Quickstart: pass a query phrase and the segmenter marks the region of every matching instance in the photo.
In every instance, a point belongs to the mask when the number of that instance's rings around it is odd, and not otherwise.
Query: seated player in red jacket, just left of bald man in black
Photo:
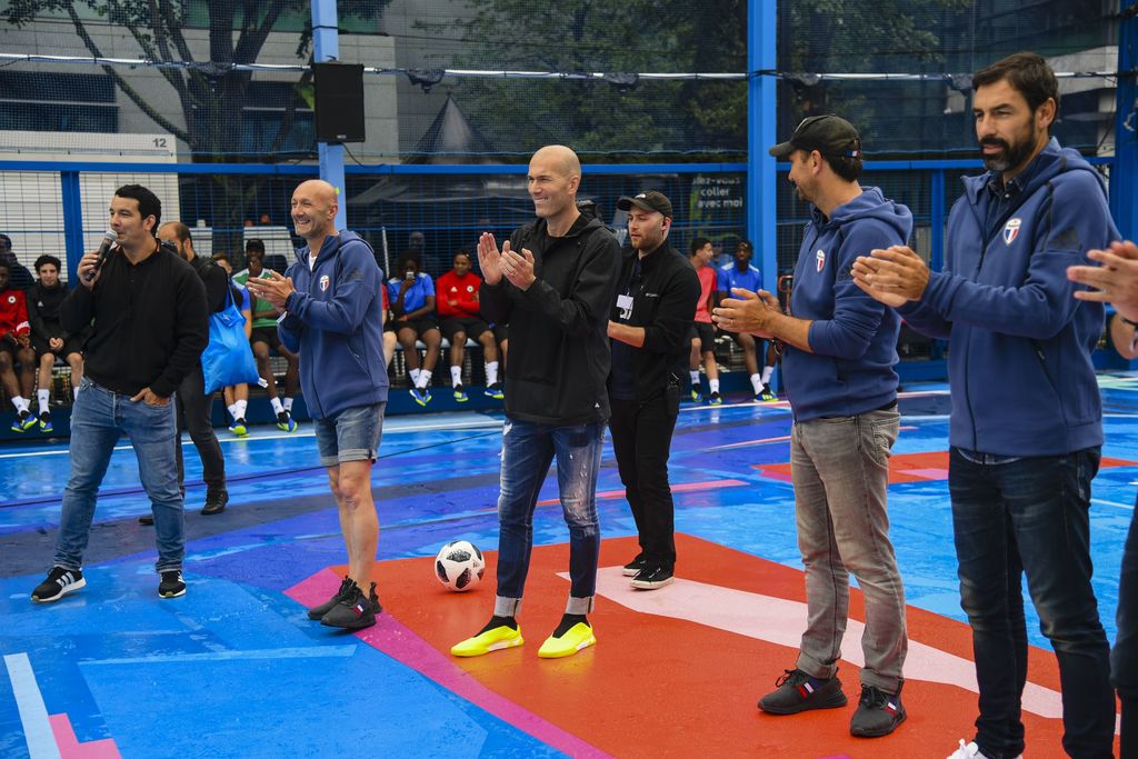
[[[470,254],[459,250],[454,254],[454,269],[438,278],[436,310],[443,322],[443,337],[451,341],[451,385],[454,386],[454,399],[462,403],[467,394],[462,389],[462,354],[467,347],[467,338],[473,338],[483,345],[483,356],[486,360],[486,395],[494,397],[501,393],[497,381],[497,345],[494,332],[483,321],[478,289],[483,278],[470,271]]]

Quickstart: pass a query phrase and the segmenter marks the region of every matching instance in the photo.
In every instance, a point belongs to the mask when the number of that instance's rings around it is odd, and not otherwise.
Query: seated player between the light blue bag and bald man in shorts
[[[264,242],[256,238],[248,240],[245,244],[245,259],[248,267],[233,274],[234,282],[245,287],[250,277],[269,278],[265,272]],[[277,336],[277,317],[281,315],[281,312],[261,298],[253,298],[251,303],[253,331],[249,345],[253,346],[253,357],[257,361],[257,373],[261,374],[261,381],[269,393],[269,403],[273,407],[273,413],[277,414],[277,428],[283,432],[295,432],[297,423],[292,419],[292,401],[300,389],[300,360],[295,353],[281,345],[280,337]],[[269,360],[272,352],[288,362],[284,370],[283,401],[277,390],[277,377],[273,374],[273,366]]]

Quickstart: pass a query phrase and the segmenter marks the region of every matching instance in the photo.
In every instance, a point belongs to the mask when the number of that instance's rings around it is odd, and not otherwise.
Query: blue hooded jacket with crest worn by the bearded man
[[[1052,139],[1007,198],[992,182],[992,172],[964,178],[948,217],[945,269],[918,303],[899,310],[917,331],[948,338],[948,442],[1012,456],[1102,445],[1090,356],[1103,305],[1075,300],[1080,286],[1066,278],[1088,249],[1119,239],[1102,178]]]

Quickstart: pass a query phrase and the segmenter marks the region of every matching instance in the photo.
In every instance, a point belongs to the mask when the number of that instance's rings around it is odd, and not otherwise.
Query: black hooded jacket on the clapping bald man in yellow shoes
[[[483,283],[481,313],[510,324],[505,413],[568,427],[609,418],[609,311],[620,274],[620,246],[596,218],[579,217],[564,237],[544,218],[514,230],[510,247],[534,254],[537,279],[519,290],[504,277]]]

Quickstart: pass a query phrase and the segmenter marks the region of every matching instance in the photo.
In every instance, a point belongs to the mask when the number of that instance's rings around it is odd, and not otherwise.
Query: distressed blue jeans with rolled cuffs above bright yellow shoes
[[[596,475],[604,446],[604,422],[553,427],[506,420],[502,431],[502,494],[498,496],[497,599],[494,613],[514,616],[529,574],[537,494],[558,460],[558,492],[569,526],[570,613],[587,613],[596,595],[601,526],[596,518]]]

